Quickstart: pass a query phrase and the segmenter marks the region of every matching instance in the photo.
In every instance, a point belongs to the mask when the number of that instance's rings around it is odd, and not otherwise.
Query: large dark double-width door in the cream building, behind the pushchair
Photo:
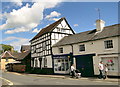
[[[93,55],[76,56],[76,68],[80,70],[82,76],[94,76]]]

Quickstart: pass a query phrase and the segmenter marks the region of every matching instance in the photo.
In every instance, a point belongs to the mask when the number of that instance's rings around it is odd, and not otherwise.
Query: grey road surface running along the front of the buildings
[[[118,85],[118,82],[104,80],[90,81],[82,79],[62,79],[49,77],[36,77],[29,75],[17,75],[13,73],[2,73],[2,77],[13,82],[14,85]],[[113,86],[112,86],[113,87]]]

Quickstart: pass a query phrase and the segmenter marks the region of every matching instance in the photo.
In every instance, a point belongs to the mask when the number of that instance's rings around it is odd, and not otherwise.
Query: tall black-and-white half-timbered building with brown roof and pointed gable
[[[31,67],[52,67],[52,45],[65,36],[74,34],[74,31],[65,18],[61,18],[53,24],[41,29],[30,41],[31,43]]]

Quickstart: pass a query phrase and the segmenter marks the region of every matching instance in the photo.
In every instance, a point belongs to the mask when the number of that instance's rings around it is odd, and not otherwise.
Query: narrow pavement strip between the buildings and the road
[[[26,73],[16,73],[16,72],[7,72],[16,75],[28,75],[34,77],[46,77],[46,78],[61,78],[61,79],[72,79],[72,80],[90,80],[90,81],[108,81],[108,82],[118,82],[120,83],[120,79],[118,78],[107,78],[107,79],[98,79],[97,77],[81,77],[79,79],[71,78],[69,75],[41,75],[41,74],[26,74]]]

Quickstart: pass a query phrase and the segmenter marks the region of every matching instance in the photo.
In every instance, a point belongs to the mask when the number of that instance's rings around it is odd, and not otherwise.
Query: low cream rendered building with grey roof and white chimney
[[[54,67],[54,72],[69,73],[69,69],[61,71],[59,67],[62,66],[62,60],[69,58],[68,55],[72,53],[73,63],[83,76],[98,75],[98,64],[100,61],[108,65],[108,75],[119,76],[120,24],[106,27],[104,27],[104,24],[103,20],[97,20],[96,29],[66,36],[53,45],[53,55],[56,58],[58,57],[57,60],[54,59],[54,66],[59,63],[59,65]],[[71,65],[71,61],[68,63]]]

